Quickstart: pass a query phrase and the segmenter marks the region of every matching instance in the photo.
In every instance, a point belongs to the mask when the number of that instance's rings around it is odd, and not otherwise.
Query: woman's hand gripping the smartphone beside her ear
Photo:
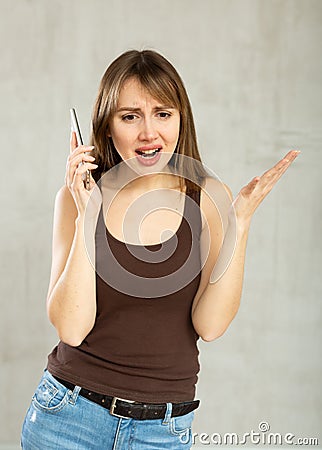
[[[90,199],[90,211],[91,217],[96,216],[99,213],[99,209],[102,204],[102,194],[90,173],[90,185],[87,190],[84,186],[83,174],[87,170],[91,171],[98,166],[94,164],[95,158],[86,152],[90,152],[94,147],[86,145],[77,145],[76,133],[73,131],[70,140],[70,154],[66,164],[65,184],[71,192],[75,205],[77,207],[78,216],[84,217],[87,206]],[[80,164],[84,162],[84,164]]]

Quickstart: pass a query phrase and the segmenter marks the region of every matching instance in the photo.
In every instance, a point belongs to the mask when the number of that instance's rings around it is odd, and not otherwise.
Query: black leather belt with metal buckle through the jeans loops
[[[62,380],[55,377],[59,383],[70,389],[74,390],[75,385],[69,383],[69,381]],[[109,409],[110,414],[116,417],[122,417],[126,419],[137,420],[151,420],[151,419],[163,419],[167,410],[166,403],[139,403],[131,400],[125,400],[119,397],[111,397],[109,395],[98,394],[97,392],[89,391],[81,388],[79,394],[82,397],[97,403],[103,408]],[[198,408],[200,401],[194,400],[191,402],[172,403],[171,417],[183,416],[189,412]]]

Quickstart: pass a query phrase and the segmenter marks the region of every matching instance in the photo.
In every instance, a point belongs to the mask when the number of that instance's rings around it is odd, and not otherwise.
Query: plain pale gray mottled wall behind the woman
[[[18,448],[57,341],[45,298],[69,108],[77,107],[88,136],[99,80],[130,48],[154,48],[174,63],[204,162],[235,195],[289,149],[302,150],[253,219],[237,317],[223,337],[200,344],[194,431],[242,435],[265,420],[272,432],[321,445],[322,2],[0,6],[1,448]]]

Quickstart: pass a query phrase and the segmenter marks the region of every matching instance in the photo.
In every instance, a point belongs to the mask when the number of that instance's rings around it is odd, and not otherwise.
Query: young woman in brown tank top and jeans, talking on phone
[[[47,310],[60,342],[22,447],[188,449],[197,340],[237,313],[252,215],[298,152],[232,203],[201,163],[182,80],[148,50],[106,70],[91,141],[72,133],[56,197]]]

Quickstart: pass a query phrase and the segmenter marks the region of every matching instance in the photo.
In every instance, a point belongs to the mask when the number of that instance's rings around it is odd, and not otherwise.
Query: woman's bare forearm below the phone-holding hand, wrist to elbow
[[[92,329],[96,315],[95,221],[77,218],[72,247],[61,276],[47,299],[50,321],[60,339],[78,346]],[[87,236],[90,236],[87,238]]]

